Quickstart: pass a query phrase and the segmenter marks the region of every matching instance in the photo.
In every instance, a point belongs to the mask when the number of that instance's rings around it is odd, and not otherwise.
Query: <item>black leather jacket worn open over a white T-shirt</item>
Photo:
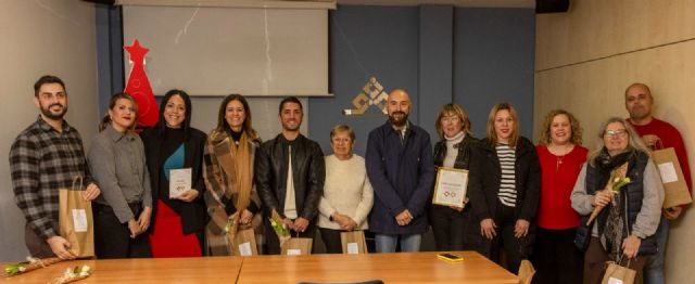
[[[300,134],[288,141],[280,133],[266,141],[256,152],[254,180],[265,205],[266,216],[275,209],[285,218],[287,191],[288,149],[292,146],[292,176],[296,215],[312,221],[318,214],[318,202],[324,194],[326,164],[318,143]],[[313,223],[313,222],[312,222]]]

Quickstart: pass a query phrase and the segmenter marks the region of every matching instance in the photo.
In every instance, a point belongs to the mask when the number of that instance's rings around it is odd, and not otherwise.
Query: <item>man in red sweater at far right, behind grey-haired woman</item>
[[[635,82],[626,89],[626,108],[630,113],[627,119],[635,131],[642,137],[644,143],[652,150],[660,150],[673,147],[679,164],[683,169],[685,183],[687,189],[692,191],[693,183],[691,181],[691,170],[687,165],[687,154],[681,133],[671,124],[659,120],[652,115],[652,105],[654,98],[649,87],[644,83]],[[658,253],[647,260],[644,267],[644,283],[665,283],[664,280],[664,257],[666,250],[666,241],[668,238],[669,222],[675,220],[682,215],[682,207],[671,207],[664,209],[659,228],[656,231]]]

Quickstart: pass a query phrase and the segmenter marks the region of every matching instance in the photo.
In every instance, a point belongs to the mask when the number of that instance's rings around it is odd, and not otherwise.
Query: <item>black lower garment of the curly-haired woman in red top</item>
[[[534,284],[581,284],[584,276],[584,254],[574,246],[577,228],[566,230],[538,229],[531,261],[535,268]]]

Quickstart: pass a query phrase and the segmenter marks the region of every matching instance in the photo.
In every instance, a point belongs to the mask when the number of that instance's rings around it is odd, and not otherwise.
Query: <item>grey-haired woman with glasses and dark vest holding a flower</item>
[[[571,195],[582,216],[574,244],[585,251],[592,284],[602,283],[608,260],[641,274],[657,251],[654,233],[664,204],[659,172],[630,124],[612,117],[599,131],[602,147],[589,156]]]

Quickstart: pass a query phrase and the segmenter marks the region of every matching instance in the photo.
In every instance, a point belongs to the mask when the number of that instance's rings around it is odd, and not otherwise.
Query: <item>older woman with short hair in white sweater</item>
[[[355,132],[345,125],[330,131],[333,155],[326,156],[324,196],[318,205],[318,229],[329,254],[342,253],[340,232],[367,229],[374,191],[365,159],[352,153]]]

